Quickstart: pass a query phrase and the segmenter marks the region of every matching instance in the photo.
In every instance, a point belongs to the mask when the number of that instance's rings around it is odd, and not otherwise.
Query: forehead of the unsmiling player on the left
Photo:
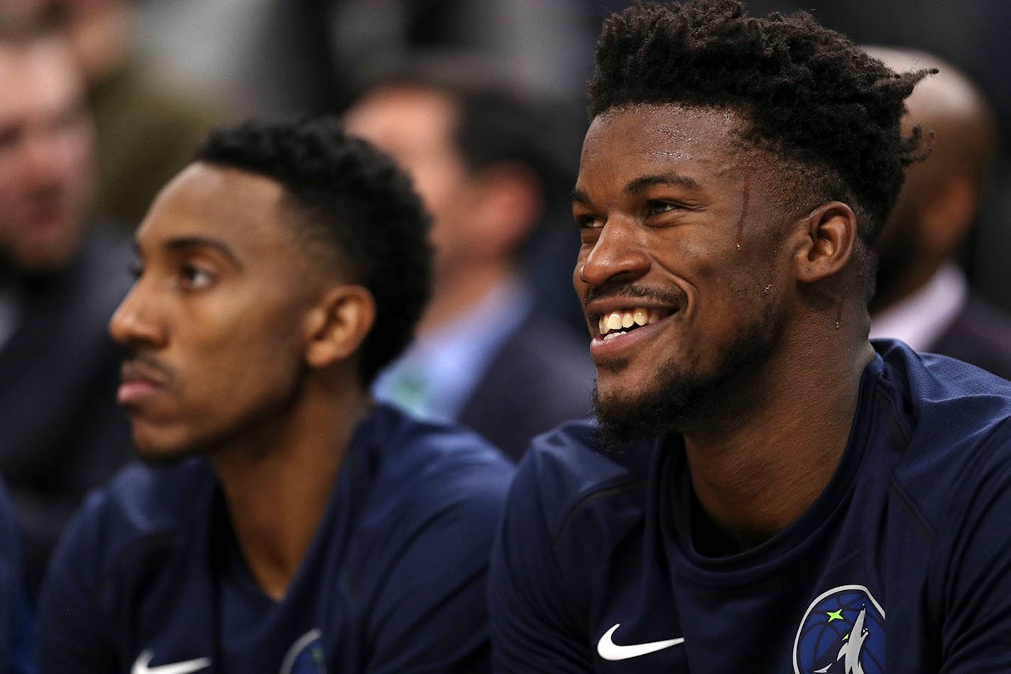
[[[292,218],[284,188],[265,176],[196,163],[176,176],[155,199],[137,229],[142,250],[173,239],[210,239],[241,261],[268,262],[291,249]]]

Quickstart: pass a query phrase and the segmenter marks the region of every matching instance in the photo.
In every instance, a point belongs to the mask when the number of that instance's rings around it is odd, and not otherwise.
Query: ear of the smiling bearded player
[[[856,245],[856,217],[841,201],[823,203],[801,223],[794,255],[798,280],[816,283],[839,273]]]

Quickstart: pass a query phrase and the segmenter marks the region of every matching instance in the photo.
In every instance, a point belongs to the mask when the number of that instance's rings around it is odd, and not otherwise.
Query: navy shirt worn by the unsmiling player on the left
[[[206,460],[130,466],[58,547],[41,671],[487,671],[485,578],[512,475],[476,434],[377,406],[275,602],[242,561]]]

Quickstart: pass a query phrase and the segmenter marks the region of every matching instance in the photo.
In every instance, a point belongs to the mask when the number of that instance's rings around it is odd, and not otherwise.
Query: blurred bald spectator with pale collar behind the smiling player
[[[1011,378],[1011,317],[977,297],[954,261],[992,177],[998,141],[993,111],[977,86],[935,56],[867,50],[896,71],[938,68],[906,100],[905,127],[933,135],[925,161],[909,167],[878,245],[871,337],[972,362]]]

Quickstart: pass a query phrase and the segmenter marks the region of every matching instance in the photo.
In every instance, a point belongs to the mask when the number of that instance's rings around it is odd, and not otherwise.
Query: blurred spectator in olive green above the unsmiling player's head
[[[133,227],[158,190],[189,162],[215,111],[170,89],[136,58],[133,0],[47,1],[88,82],[98,213]]]

